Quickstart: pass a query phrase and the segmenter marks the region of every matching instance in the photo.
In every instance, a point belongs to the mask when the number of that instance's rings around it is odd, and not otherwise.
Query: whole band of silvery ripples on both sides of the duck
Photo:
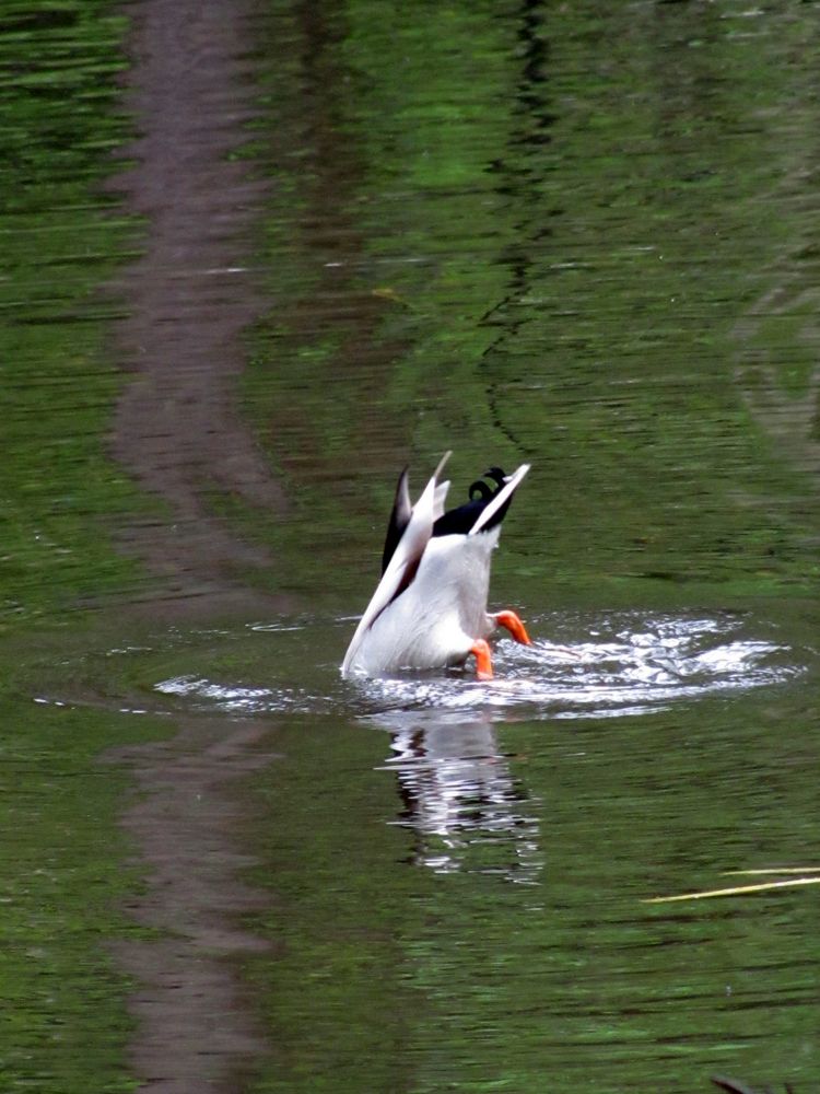
[[[552,615],[531,622],[534,632],[550,638],[530,647],[499,642],[490,682],[458,670],[351,684],[327,664],[321,695],[306,679],[262,686],[199,674],[173,676],[154,689],[232,713],[350,712],[353,705],[353,713],[389,724],[400,722],[402,711],[421,710],[435,711],[441,721],[482,711],[503,719],[611,718],[777,685],[805,671],[795,651],[762,636],[760,626],[754,632],[755,625],[742,616]],[[301,641],[311,644],[312,628],[303,630],[307,638],[303,633]],[[268,641],[273,638],[295,641],[281,629],[266,632]],[[277,652],[266,647],[266,664],[285,660]]]

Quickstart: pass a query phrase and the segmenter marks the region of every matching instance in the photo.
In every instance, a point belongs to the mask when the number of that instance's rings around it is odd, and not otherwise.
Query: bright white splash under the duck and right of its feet
[[[390,711],[437,708],[502,718],[612,718],[776,685],[803,672],[788,647],[746,633],[737,617],[609,616],[590,622],[583,637],[579,619],[535,622],[535,631],[565,640],[501,641],[496,677],[488,683],[462,673],[366,682],[361,687],[373,715],[384,722]]]

